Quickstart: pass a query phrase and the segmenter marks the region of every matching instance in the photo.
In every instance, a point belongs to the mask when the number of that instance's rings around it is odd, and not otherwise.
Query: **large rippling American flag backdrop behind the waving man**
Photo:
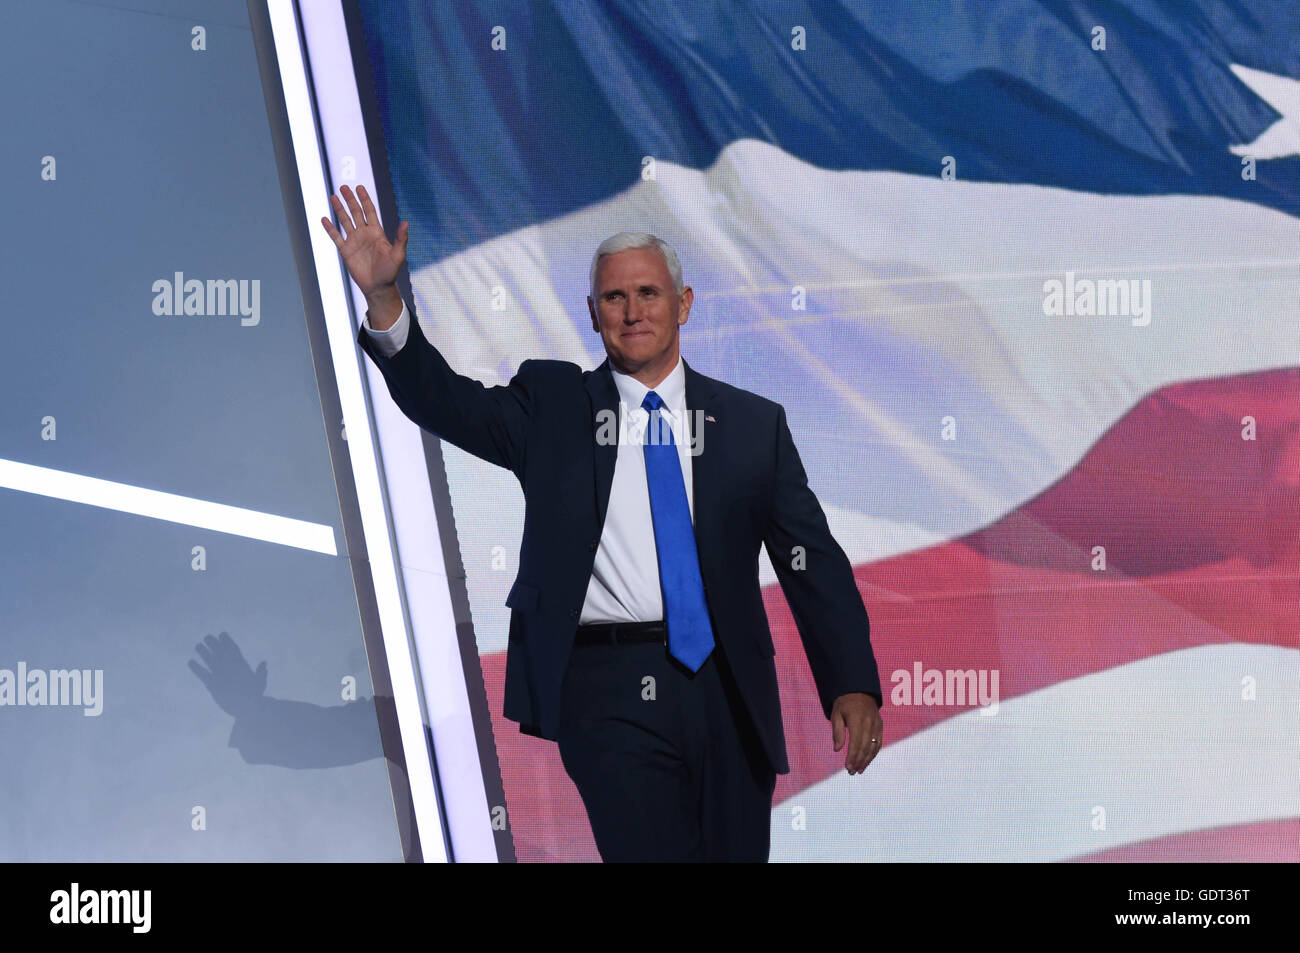
[[[786,408],[885,745],[845,774],[764,554],[772,859],[1300,859],[1300,5],[363,17],[454,368],[595,367],[590,255],[646,230],[686,359]],[[595,859],[500,715],[523,494],[443,454],[517,857]]]

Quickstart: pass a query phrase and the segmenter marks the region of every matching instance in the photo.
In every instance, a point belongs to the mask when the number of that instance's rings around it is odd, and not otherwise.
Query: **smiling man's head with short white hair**
[[[677,328],[690,315],[692,298],[689,287],[677,294],[658,248],[628,248],[599,260],[595,298],[586,306],[615,368],[662,380],[677,365]]]

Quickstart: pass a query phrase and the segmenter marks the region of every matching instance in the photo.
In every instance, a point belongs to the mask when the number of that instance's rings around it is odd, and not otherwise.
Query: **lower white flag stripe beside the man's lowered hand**
[[[771,859],[1044,863],[1300,816],[1297,663],[1202,645],[963,711],[775,805]]]

